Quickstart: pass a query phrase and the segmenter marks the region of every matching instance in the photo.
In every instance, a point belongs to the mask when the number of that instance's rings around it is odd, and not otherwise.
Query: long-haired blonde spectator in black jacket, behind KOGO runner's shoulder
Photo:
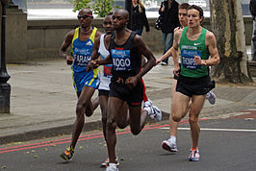
[[[145,15],[145,8],[141,3],[141,0],[133,0],[132,8],[132,28],[131,30],[141,36],[143,26],[145,26],[146,32],[149,32],[149,25]]]

